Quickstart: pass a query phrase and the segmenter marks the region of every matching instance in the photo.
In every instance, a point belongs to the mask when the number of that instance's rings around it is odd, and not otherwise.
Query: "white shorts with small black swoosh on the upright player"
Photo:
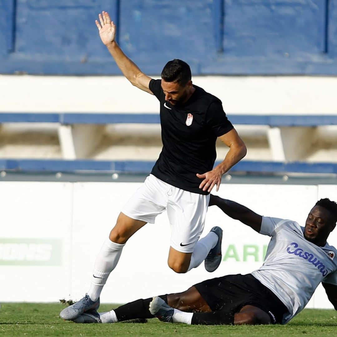
[[[150,174],[122,209],[128,217],[154,223],[165,210],[170,221],[171,247],[193,252],[204,229],[209,194],[203,195],[169,185]]]

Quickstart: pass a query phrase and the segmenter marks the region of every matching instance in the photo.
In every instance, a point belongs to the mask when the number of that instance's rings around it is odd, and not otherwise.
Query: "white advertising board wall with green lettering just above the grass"
[[[0,285],[6,291],[0,293],[0,301],[80,299],[89,289],[93,263],[103,240],[121,207],[140,185],[1,182]],[[337,186],[332,185],[226,184],[218,194],[257,213],[290,218],[304,225],[317,198],[334,200],[336,193]],[[168,268],[170,225],[164,213],[155,224],[146,225],[130,238],[103,289],[102,302],[125,303],[180,292],[207,278],[250,273],[261,266],[267,236],[211,207],[204,233],[214,225],[224,230],[223,257],[226,252],[232,255],[214,273],[208,273],[203,265],[187,274],[176,274]],[[336,242],[337,232],[329,238],[330,244]],[[245,259],[244,250],[251,253]],[[332,308],[321,286],[308,307]]]

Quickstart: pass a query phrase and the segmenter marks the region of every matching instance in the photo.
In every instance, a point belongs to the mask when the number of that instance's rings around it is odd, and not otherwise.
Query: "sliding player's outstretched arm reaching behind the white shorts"
[[[216,205],[222,212],[235,220],[239,220],[245,225],[251,227],[256,232],[261,231],[262,216],[256,214],[249,208],[242,206],[234,201],[220,198],[217,195],[210,195],[209,206]]]

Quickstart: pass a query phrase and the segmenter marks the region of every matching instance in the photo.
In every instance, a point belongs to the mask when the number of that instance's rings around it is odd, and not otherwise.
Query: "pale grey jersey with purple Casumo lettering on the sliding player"
[[[292,220],[263,217],[261,234],[271,236],[265,262],[251,274],[288,308],[283,324],[309,302],[320,282],[337,285],[337,250],[304,238],[304,227]]]

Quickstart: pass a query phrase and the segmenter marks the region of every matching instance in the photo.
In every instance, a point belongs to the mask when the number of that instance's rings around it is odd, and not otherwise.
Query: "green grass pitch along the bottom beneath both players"
[[[100,311],[116,307],[102,304]],[[62,304],[2,303],[3,336],[337,336],[335,310],[305,309],[284,326],[188,326],[150,319],[145,324],[75,324],[63,321]]]

